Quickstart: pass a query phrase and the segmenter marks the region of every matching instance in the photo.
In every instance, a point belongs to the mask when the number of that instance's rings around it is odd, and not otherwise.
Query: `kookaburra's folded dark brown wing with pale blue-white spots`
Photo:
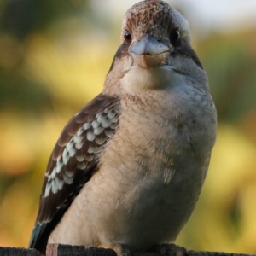
[[[38,218],[29,247],[45,251],[49,235],[98,170],[97,155],[113,135],[119,99],[100,94],[67,123],[55,144],[44,177]]]

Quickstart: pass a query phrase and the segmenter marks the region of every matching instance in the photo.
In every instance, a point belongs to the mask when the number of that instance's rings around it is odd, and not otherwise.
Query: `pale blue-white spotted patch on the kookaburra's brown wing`
[[[58,156],[55,167],[45,176],[48,178],[44,190],[44,197],[48,197],[49,193],[58,193],[64,184],[72,184],[74,179],[74,170],[68,170],[68,163],[71,158],[77,160],[76,168],[84,170],[88,166],[88,162],[93,160],[95,154],[99,151],[99,146],[104,143],[113,133],[113,129],[118,122],[118,112],[116,108],[106,108],[103,113],[96,113],[96,119],[84,123],[82,127],[73,135],[70,141],[66,144],[61,155]],[[110,129],[109,129],[110,128]],[[104,136],[101,136],[104,132]],[[84,154],[77,154],[84,143],[88,143],[89,147]],[[65,167],[65,168],[63,168]],[[58,175],[61,170],[65,170]]]

